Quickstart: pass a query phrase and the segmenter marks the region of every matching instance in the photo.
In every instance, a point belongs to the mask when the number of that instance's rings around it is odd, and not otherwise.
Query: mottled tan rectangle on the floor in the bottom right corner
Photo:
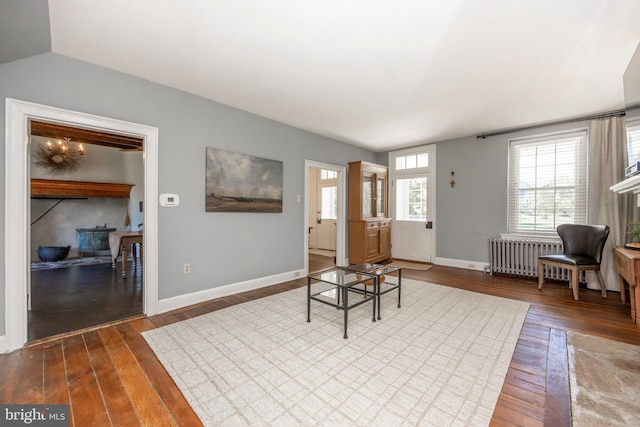
[[[640,347],[567,332],[575,427],[640,425]]]

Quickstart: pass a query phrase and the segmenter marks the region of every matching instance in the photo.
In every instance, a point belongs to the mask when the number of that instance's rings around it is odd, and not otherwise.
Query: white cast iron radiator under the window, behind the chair
[[[538,257],[561,254],[562,242],[555,240],[489,239],[489,268],[491,274],[538,277]],[[569,280],[564,268],[545,266],[545,279]],[[584,282],[584,272],[579,280]]]

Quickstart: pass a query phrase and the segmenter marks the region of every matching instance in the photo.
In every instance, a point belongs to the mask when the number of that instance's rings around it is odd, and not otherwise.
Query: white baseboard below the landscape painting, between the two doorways
[[[206,289],[204,291],[193,292],[190,294],[179,295],[177,297],[162,299],[158,301],[158,314],[167,311],[177,310],[193,304],[209,301],[216,298],[226,297],[228,295],[240,292],[252,291],[254,289],[264,288],[266,286],[275,285],[290,280],[303,277],[304,270],[290,271],[287,273],[276,274],[268,277],[260,277],[258,279],[247,280],[245,282],[232,283],[225,286]]]

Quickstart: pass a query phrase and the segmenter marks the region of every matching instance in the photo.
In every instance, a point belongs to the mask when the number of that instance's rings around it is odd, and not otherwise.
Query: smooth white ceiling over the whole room
[[[53,52],[382,152],[622,108],[638,0],[49,0]]]

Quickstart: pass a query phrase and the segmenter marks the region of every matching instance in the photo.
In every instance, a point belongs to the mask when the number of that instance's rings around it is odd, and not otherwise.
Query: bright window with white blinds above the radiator
[[[510,142],[510,234],[553,236],[586,216],[586,130]]]

